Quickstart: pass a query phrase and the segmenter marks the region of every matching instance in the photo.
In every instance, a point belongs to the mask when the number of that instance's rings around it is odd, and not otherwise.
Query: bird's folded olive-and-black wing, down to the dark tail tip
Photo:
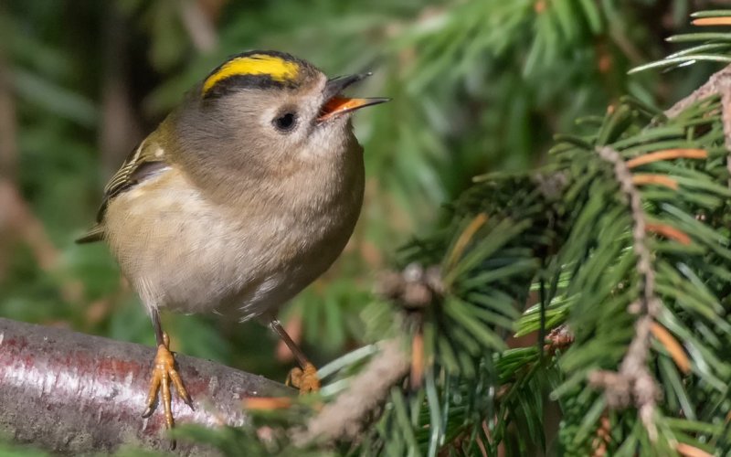
[[[90,228],[79,239],[77,243],[91,243],[101,241],[104,238],[104,215],[107,206],[112,198],[129,190],[133,186],[142,183],[146,178],[155,175],[158,171],[168,166],[165,162],[164,150],[160,147],[148,144],[147,140],[132,149],[124,163],[117,170],[107,186],[104,187],[104,196],[101,199],[101,206],[97,211],[97,223]]]

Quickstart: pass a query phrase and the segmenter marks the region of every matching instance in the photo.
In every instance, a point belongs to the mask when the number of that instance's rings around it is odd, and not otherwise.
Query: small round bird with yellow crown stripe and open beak
[[[97,224],[78,242],[105,240],[154,326],[157,356],[144,417],[157,394],[167,428],[175,368],[159,311],[259,318],[302,367],[292,384],[319,388],[316,370],[278,310],[344,249],[363,203],[355,110],[388,101],[346,98],[368,74],[328,79],[276,51],[228,58],[130,154],[104,188]]]

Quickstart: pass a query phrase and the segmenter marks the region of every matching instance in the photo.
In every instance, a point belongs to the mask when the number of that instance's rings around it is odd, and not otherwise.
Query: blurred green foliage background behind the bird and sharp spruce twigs
[[[364,339],[378,271],[440,226],[472,175],[540,163],[630,93],[668,106],[709,67],[628,77],[673,51],[690,0],[54,0],[0,2],[0,316],[154,344],[103,244],[73,239],[106,179],[228,55],[277,49],[394,100],[355,116],[365,207],[344,255],[284,310],[317,363]],[[174,350],[283,380],[257,323],[164,315]]]

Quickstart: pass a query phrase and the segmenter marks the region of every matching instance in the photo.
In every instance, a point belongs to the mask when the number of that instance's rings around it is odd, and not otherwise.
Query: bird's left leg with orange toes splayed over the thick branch
[[[173,382],[178,396],[185,401],[185,404],[193,409],[193,403],[190,400],[187,390],[183,385],[183,380],[175,369],[175,356],[170,352],[170,338],[160,325],[160,315],[157,310],[153,311],[153,325],[155,339],[157,340],[157,356],[154,357],[153,375],[150,380],[150,390],[147,394],[146,409],[143,412],[143,418],[148,418],[153,414],[157,392],[162,390],[163,408],[165,413],[165,425],[168,430],[175,426],[175,419],[172,411],[172,396],[170,393],[170,382]],[[172,446],[175,447],[175,441]]]

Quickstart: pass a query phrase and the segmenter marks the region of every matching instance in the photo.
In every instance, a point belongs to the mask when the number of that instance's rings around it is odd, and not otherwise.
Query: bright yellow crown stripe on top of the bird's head
[[[300,65],[283,58],[266,54],[252,54],[246,57],[232,58],[203,83],[203,94],[217,84],[232,76],[268,75],[272,80],[285,82],[297,78]]]

